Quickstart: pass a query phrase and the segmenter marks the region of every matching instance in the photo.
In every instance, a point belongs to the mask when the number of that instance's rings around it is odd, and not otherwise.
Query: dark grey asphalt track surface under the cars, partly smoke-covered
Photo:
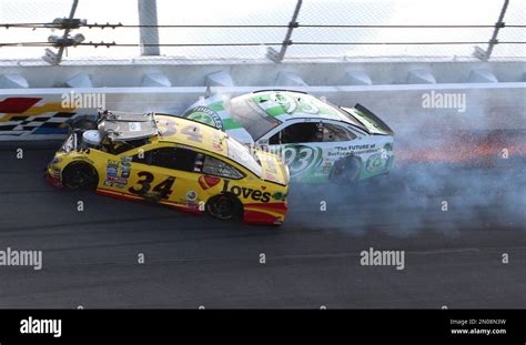
[[[41,271],[0,266],[1,308],[526,307],[524,161],[292,186],[274,227],[54,190],[42,173],[53,149],[0,146],[0,250],[43,251]],[[370,247],[405,251],[405,268],[361,265]]]

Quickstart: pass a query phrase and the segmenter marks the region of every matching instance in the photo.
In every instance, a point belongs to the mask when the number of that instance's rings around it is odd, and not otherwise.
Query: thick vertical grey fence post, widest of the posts
[[[139,24],[148,26],[139,28],[141,55],[160,55],[159,49],[159,28],[158,24],[158,1],[156,0],[138,0],[139,4]],[[153,44],[153,45],[152,45]]]

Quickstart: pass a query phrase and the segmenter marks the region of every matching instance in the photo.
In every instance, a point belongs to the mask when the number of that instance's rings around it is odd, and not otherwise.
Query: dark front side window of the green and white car
[[[271,145],[276,145],[321,142],[323,141],[322,129],[321,123],[317,122],[294,123],[272,135],[269,143]]]

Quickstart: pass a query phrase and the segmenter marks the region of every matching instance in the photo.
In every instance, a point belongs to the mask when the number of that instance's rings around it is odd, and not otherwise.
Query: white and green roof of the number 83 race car
[[[301,91],[265,90],[249,93],[246,97],[260,105],[267,115],[275,116],[282,122],[303,118],[350,122],[331,103]],[[282,101],[276,102],[276,98]]]

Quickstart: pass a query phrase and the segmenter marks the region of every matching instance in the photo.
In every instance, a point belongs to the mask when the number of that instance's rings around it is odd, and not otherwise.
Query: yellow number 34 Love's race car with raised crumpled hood
[[[249,149],[206,124],[105,111],[71,123],[47,177],[57,187],[282,224],[290,174],[277,155]]]

